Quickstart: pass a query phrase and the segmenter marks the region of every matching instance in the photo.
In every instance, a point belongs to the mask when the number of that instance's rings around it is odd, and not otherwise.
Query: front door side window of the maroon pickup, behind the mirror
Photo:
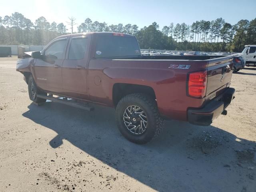
[[[46,59],[62,59],[66,48],[67,40],[57,40],[51,44],[44,52]]]

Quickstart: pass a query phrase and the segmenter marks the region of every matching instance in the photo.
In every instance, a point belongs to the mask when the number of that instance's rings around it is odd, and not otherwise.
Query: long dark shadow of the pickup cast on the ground
[[[242,168],[254,161],[253,156],[239,156],[239,150],[242,153],[248,148],[254,155],[256,143],[214,126],[166,121],[156,140],[136,145],[118,131],[112,108],[95,106],[94,112],[86,112],[46,102],[43,106],[30,104],[28,109],[24,117],[58,134],[49,141],[52,148],[68,140],[154,190],[227,192],[256,187],[254,180],[246,178],[247,167]]]

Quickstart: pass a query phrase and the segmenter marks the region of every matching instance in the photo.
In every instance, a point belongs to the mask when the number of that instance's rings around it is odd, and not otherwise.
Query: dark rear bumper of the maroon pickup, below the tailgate
[[[210,101],[203,108],[188,109],[188,122],[200,126],[208,126],[217,118],[234,99],[234,88],[228,88],[216,99]]]

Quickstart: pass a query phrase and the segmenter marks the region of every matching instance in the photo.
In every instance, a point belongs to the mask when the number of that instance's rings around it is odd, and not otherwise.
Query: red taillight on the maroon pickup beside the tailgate
[[[206,84],[206,71],[190,73],[188,78],[188,94],[192,97],[203,98],[206,94]]]

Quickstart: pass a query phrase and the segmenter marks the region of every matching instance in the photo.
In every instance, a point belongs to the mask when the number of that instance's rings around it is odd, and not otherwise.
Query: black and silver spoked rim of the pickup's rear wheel
[[[132,134],[141,135],[146,131],[148,119],[142,108],[131,105],[124,110],[123,122]]]

